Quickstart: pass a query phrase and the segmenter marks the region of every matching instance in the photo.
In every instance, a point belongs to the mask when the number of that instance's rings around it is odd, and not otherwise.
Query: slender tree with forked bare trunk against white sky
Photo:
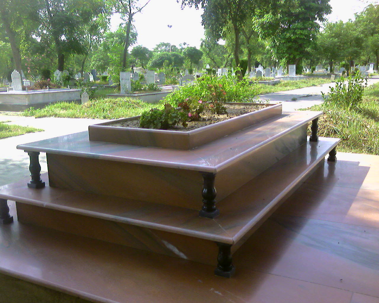
[[[126,70],[126,62],[128,56],[128,48],[130,46],[130,32],[134,15],[141,12],[142,9],[150,2],[147,0],[140,5],[139,0],[106,0],[108,6],[112,8],[112,13],[120,13],[122,19],[126,22],[126,34],[124,42],[124,52],[122,55],[122,70]]]

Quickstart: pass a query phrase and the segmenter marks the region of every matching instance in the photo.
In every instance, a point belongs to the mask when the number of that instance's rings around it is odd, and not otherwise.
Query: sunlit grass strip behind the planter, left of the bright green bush
[[[58,102],[41,109],[30,108],[23,112],[24,116],[88,118],[88,119],[119,119],[139,116],[143,111],[161,108],[161,104],[146,103],[132,98],[96,98],[81,105],[73,102]]]

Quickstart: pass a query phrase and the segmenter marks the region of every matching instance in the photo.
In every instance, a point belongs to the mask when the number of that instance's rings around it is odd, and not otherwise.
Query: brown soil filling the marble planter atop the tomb
[[[199,121],[190,121],[188,122],[188,127],[177,125],[175,127],[169,128],[169,130],[176,130],[176,131],[195,130],[196,128],[204,127],[213,123],[217,123],[224,120],[228,120],[230,118],[238,117],[243,114],[247,114],[249,112],[266,108],[267,106],[269,105],[266,105],[266,104],[255,104],[255,105],[225,104],[226,110],[228,112],[227,114],[216,115],[216,114],[213,114],[209,110],[205,110],[204,113],[201,115],[201,118]],[[125,122],[118,122],[110,126],[139,128],[139,119],[128,120]]]

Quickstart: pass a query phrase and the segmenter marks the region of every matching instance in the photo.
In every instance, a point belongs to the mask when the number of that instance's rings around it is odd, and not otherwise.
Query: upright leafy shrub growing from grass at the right
[[[362,102],[363,91],[367,86],[367,79],[362,78],[359,73],[350,75],[348,78],[341,77],[335,87],[329,87],[329,94],[323,94],[324,100],[350,110]]]

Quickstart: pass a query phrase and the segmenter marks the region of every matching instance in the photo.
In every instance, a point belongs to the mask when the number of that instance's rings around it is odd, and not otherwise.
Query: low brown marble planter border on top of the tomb
[[[257,105],[257,103],[251,104]],[[262,104],[259,103],[259,105]],[[113,123],[139,119],[140,116],[118,119],[90,125],[88,127],[89,140],[189,150],[282,114],[281,104],[267,104],[266,106],[266,108],[258,111],[190,131],[152,130],[146,128],[111,126]]]

